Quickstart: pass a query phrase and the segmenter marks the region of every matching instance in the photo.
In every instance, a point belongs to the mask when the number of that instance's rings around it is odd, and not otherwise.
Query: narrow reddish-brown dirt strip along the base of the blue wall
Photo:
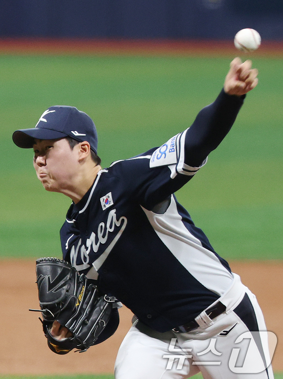
[[[0,53],[28,55],[144,55],[231,56],[245,55],[231,41],[111,40],[111,39],[0,39]],[[246,55],[250,58],[251,54]],[[283,42],[262,41],[256,56],[283,57]]]

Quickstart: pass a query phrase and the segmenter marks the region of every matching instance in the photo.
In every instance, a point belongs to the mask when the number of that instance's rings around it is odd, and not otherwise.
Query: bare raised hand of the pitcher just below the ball
[[[224,82],[224,91],[228,95],[242,96],[251,91],[258,84],[258,70],[252,69],[252,61],[242,63],[235,58],[230,63],[230,70]]]

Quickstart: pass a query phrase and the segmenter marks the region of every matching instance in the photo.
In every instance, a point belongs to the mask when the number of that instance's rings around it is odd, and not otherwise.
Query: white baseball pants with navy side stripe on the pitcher
[[[159,333],[136,320],[115,363],[115,379],[274,379],[266,326],[237,274],[219,301],[226,312],[188,333]],[[199,318],[198,318],[199,319]]]

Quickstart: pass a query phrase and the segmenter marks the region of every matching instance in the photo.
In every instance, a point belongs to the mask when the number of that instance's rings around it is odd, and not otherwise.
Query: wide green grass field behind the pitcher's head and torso
[[[231,57],[232,59],[233,57]],[[17,128],[51,105],[88,113],[103,166],[159,146],[187,128],[222,88],[227,58],[0,55],[0,257],[61,257],[70,199],[47,193]],[[283,61],[254,60],[260,82],[223,143],[178,193],[227,259],[281,259]]]

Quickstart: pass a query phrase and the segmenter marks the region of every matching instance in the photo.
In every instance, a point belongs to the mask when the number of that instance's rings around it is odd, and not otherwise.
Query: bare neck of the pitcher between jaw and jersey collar
[[[92,168],[84,169],[78,173],[75,180],[72,181],[72,185],[66,188],[62,188],[59,192],[70,197],[75,204],[77,204],[83,196],[91,188],[98,172],[101,170],[101,166],[98,164]]]

